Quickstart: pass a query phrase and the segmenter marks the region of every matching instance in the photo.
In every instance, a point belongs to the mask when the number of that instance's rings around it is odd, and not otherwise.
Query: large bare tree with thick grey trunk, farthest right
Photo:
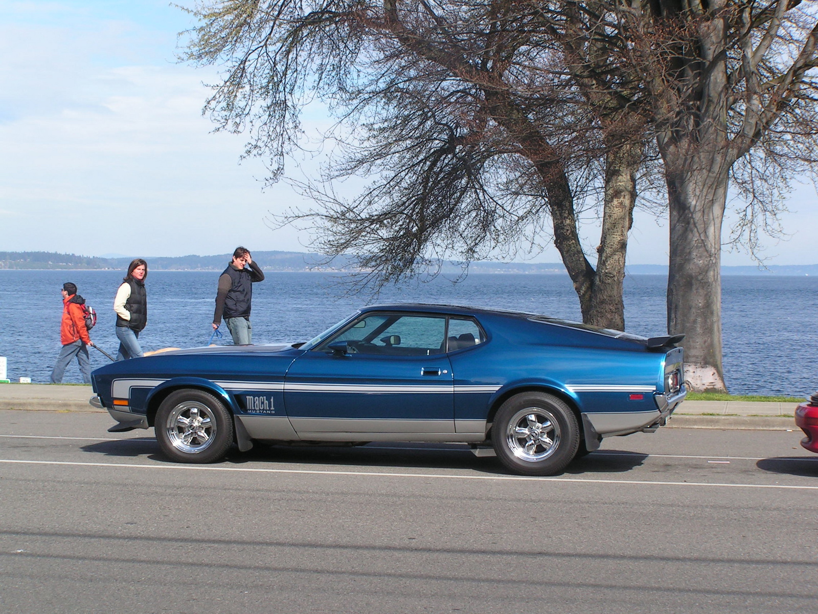
[[[816,162],[815,2],[622,3],[623,56],[645,75],[670,205],[669,332],[685,332],[687,377],[724,390],[721,232],[730,180],[748,198],[740,230],[775,223],[768,198]],[[808,6],[807,6],[808,5]]]

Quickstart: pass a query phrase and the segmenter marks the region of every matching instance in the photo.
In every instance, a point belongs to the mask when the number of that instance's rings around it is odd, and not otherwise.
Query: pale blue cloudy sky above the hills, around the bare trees
[[[286,183],[263,188],[261,161],[240,163],[245,137],[212,133],[202,117],[202,83],[216,73],[176,61],[191,25],[162,0],[0,2],[0,251],[306,251],[308,234],[264,220],[307,203]],[[288,167],[314,169],[308,159]],[[768,264],[818,262],[816,201],[811,185],[790,195],[791,236],[766,241]],[[583,237],[592,253],[597,228]],[[553,247],[534,258],[559,260]],[[663,219],[636,216],[628,261],[667,263]],[[752,260],[728,251],[723,263]]]

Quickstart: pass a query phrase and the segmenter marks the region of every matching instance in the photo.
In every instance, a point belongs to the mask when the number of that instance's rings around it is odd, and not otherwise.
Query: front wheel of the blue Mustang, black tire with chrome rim
[[[162,453],[177,463],[215,463],[233,443],[230,412],[196,389],[170,393],[156,412],[154,430]]]

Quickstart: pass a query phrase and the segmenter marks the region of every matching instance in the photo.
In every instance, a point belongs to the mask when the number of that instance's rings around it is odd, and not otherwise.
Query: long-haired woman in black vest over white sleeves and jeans
[[[142,345],[139,345],[139,333],[148,322],[148,302],[145,293],[145,278],[148,276],[148,264],[142,258],[128,264],[128,274],[116,291],[114,311],[116,312],[116,336],[119,339],[117,360],[139,358]]]

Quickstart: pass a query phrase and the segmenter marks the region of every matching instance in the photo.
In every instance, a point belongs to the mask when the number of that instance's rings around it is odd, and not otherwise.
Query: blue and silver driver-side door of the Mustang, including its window
[[[331,347],[330,347],[331,346]],[[455,432],[446,317],[367,312],[305,352],[285,377],[302,439],[400,439]]]

